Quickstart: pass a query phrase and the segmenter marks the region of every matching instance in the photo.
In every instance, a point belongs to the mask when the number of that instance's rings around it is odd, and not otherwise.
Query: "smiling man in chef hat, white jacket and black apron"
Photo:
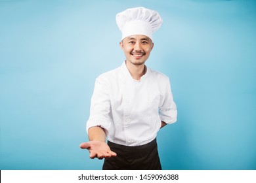
[[[169,78],[146,67],[154,47],[158,12],[129,8],[116,16],[125,61],[95,82],[87,122],[90,158],[104,158],[103,169],[161,169],[156,135],[177,120]],[[106,144],[108,137],[108,144]]]

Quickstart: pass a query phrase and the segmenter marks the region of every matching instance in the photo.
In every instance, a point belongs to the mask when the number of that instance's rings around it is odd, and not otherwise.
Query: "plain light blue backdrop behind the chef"
[[[178,107],[163,169],[256,169],[255,1],[0,0],[1,169],[101,169],[79,144],[96,76],[125,59],[116,13],[138,6],[163,18],[147,65]]]

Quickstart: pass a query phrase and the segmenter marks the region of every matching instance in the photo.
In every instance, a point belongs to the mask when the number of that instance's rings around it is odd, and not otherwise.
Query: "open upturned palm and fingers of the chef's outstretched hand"
[[[106,142],[101,141],[89,141],[80,144],[80,148],[87,149],[90,152],[90,158],[110,158],[116,156],[116,152],[112,152]]]

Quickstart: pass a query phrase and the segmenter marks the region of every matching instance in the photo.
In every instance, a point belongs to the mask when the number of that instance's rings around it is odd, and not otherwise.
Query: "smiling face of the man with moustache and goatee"
[[[119,44],[125,53],[126,61],[133,65],[144,64],[154,46],[152,40],[145,35],[131,35]]]

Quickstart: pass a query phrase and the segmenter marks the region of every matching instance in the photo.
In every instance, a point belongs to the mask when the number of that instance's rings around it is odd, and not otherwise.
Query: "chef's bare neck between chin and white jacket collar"
[[[146,73],[146,67],[143,64],[141,65],[134,65],[129,63],[129,61],[125,61],[126,67],[135,80],[140,80],[140,78]]]

